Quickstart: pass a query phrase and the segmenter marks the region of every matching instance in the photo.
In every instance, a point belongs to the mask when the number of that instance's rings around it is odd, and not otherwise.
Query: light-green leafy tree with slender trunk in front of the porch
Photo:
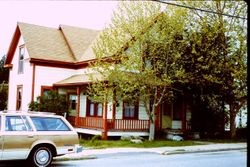
[[[140,101],[150,120],[149,140],[155,136],[156,109],[179,92],[174,83],[185,82],[178,65],[186,45],[185,15],[176,8],[162,12],[155,2],[121,2],[94,45],[93,68],[107,82],[93,79],[90,96],[99,102]]]

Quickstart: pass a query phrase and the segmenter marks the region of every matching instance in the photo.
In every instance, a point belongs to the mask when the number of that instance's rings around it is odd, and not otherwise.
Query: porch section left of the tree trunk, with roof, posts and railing
[[[96,74],[94,77],[100,78]],[[124,119],[122,104],[117,107],[112,103],[91,102],[86,94],[89,83],[91,83],[89,75],[81,74],[53,85],[59,92],[66,94],[69,104],[74,106],[74,109],[70,108],[71,113],[67,116],[67,120],[78,133],[100,135],[102,139],[107,139],[108,136],[149,135],[149,120],[144,116],[146,113],[138,115],[137,118]],[[71,100],[72,95],[74,98]]]

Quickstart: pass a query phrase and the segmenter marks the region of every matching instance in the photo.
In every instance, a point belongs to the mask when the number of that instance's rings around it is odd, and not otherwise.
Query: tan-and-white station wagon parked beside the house
[[[78,134],[64,117],[0,111],[0,160],[27,159],[32,166],[46,167],[55,156],[80,151]]]

